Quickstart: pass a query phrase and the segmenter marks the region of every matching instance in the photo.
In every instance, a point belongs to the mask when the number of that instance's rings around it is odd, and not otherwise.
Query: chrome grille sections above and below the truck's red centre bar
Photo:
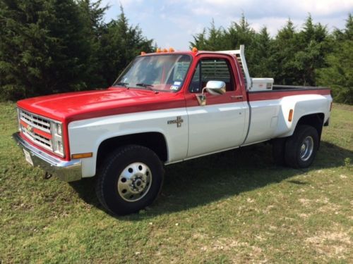
[[[53,147],[51,138],[44,137],[42,134],[37,134],[33,130],[28,129],[28,127],[34,127],[37,128],[37,130],[51,134],[51,122],[39,115],[35,115],[28,111],[23,111],[23,109],[18,109],[18,115],[19,119],[27,124],[27,127],[25,127],[22,123],[20,123],[21,132],[23,132],[23,134],[25,134],[25,136],[32,142],[35,142],[35,144],[52,151]]]

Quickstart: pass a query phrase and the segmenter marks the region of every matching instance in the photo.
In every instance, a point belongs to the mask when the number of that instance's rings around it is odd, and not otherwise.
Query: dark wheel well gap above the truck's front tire
[[[167,142],[163,134],[159,132],[147,132],[139,134],[128,134],[125,136],[112,137],[100,144],[97,152],[97,168],[104,161],[104,158],[120,146],[136,144],[145,146],[154,151],[162,162],[167,161]]]

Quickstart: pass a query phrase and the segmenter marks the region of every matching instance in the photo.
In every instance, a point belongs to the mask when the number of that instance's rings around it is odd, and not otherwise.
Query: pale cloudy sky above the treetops
[[[314,23],[327,25],[328,30],[344,28],[353,0],[103,0],[111,8],[106,21],[116,18],[120,4],[132,25],[138,25],[148,39],[162,48],[189,49],[192,35],[209,27],[214,19],[217,27],[229,27],[244,13],[251,27],[268,27],[270,34],[291,18],[299,30],[311,13]],[[236,47],[234,47],[236,48]]]

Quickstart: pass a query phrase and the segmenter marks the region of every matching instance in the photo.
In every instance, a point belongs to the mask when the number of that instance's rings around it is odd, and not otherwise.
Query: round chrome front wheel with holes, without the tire
[[[152,183],[152,173],[145,163],[131,163],[121,172],[118,192],[125,201],[138,201],[148,193]]]

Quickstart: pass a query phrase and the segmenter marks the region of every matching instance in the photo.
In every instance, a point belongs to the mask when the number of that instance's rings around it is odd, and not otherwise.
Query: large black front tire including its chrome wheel
[[[160,158],[145,146],[122,146],[105,159],[97,175],[97,198],[114,215],[149,206],[162,189]]]

